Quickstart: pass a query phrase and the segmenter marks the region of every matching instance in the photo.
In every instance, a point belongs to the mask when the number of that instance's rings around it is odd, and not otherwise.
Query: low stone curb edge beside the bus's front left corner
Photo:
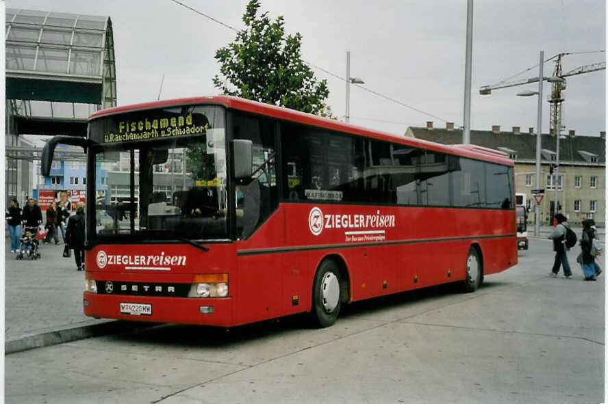
[[[94,336],[105,336],[110,334],[121,334],[133,332],[138,329],[149,328],[155,323],[138,323],[134,321],[119,320],[90,320],[71,325],[61,325],[59,327],[49,327],[41,333],[23,334],[16,338],[6,340],[4,343],[4,353],[16,353],[27,351],[28,349],[49,347],[64,342],[72,342]]]

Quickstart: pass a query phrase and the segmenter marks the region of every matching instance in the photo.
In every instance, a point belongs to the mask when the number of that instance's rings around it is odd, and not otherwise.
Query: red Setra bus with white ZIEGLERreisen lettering
[[[88,137],[84,313],[234,326],[516,265],[513,162],[230,96],[116,107]],[[105,198],[96,199],[98,195]]]

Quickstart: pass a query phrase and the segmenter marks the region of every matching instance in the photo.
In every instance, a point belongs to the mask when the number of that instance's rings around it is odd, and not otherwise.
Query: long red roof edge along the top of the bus
[[[384,133],[380,131],[373,131],[372,129],[362,128],[361,126],[355,126],[346,124],[338,120],[332,120],[329,118],[322,118],[320,116],[312,115],[310,113],[303,113],[295,111],[294,109],[288,109],[284,107],[277,107],[275,105],[258,103],[253,100],[246,100],[235,96],[201,96],[201,97],[190,97],[190,98],[176,98],[173,100],[160,100],[151,103],[140,103],[134,105],[125,105],[122,107],[113,107],[109,109],[103,109],[94,113],[90,116],[89,120],[101,118],[107,115],[113,115],[115,113],[126,113],[142,109],[154,109],[158,107],[167,107],[173,105],[186,105],[186,104],[211,104],[211,105],[223,105],[230,109],[238,109],[240,111],[246,111],[251,113],[258,113],[264,116],[277,118],[281,120],[288,120],[299,124],[306,124],[311,126],[317,126],[320,128],[329,129],[332,131],[340,131],[346,133],[353,133],[355,135],[361,135],[365,137],[372,137],[388,142],[397,142],[401,144],[407,144],[412,147],[427,148],[438,152],[445,152],[449,154],[457,154],[463,157],[470,157],[472,159],[479,159],[485,161],[491,161],[493,163],[499,163],[503,165],[514,165],[514,162],[509,159],[507,154],[493,150],[490,148],[484,148],[475,145],[444,145],[435,142],[429,142],[424,139],[416,139],[414,137],[398,136],[392,133]]]

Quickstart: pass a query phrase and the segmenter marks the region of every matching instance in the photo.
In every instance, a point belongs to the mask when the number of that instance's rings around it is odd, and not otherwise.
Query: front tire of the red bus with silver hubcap
[[[340,314],[340,270],[333,260],[318,267],[312,286],[312,317],[315,325],[329,327]]]

